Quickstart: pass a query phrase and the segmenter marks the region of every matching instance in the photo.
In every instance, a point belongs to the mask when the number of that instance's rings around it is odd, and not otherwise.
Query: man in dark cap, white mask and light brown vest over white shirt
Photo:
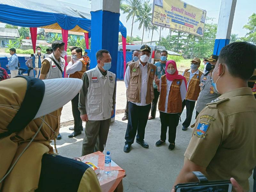
[[[136,132],[136,142],[142,147],[148,148],[148,143],[144,141],[145,128],[154,99],[153,81],[156,66],[149,63],[151,48],[142,45],[139,52],[139,60],[132,62],[126,69],[124,82],[128,89],[128,124],[125,133],[124,152],[129,152],[134,142]]]

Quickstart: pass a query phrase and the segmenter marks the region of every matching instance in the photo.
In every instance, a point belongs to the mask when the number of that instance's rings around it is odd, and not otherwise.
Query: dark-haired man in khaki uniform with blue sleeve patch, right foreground
[[[256,165],[256,100],[247,82],[255,55],[256,46],[247,42],[220,51],[212,78],[222,95],[199,113],[175,185],[196,181],[192,171],[200,171],[209,180],[233,177],[249,190],[248,178]]]

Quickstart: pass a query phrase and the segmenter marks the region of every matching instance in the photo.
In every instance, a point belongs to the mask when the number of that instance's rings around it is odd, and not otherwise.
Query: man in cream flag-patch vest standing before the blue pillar
[[[96,53],[96,58],[97,66],[82,76],[84,84],[79,94],[80,117],[86,121],[82,156],[93,153],[98,137],[97,148],[103,152],[116,103],[116,75],[108,71],[111,56],[102,49]]]

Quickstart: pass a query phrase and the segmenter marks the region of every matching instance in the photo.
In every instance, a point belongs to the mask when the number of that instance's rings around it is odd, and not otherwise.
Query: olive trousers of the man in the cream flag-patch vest
[[[109,126],[110,118],[99,121],[88,120],[86,122],[85,136],[82,146],[82,156],[93,153],[97,138],[99,139],[99,142],[97,142],[98,146],[96,146],[96,148],[98,148],[99,151],[103,152],[104,145],[106,146],[106,142],[108,139]]]

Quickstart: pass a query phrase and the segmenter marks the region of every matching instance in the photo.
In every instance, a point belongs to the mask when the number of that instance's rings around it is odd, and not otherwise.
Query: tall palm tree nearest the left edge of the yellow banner
[[[151,25],[151,17],[152,17],[152,3],[150,3],[150,0],[145,1],[140,7],[140,15],[135,20],[135,22],[139,21],[139,30],[143,26],[143,32],[142,32],[142,39],[141,44],[143,43],[143,37],[144,37],[144,30],[148,31],[149,27]]]

